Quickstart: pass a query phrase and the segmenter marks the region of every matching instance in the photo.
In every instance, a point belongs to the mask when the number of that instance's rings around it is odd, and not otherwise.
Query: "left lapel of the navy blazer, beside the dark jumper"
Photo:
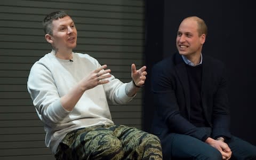
[[[190,118],[190,93],[189,93],[188,75],[187,75],[185,62],[183,61],[181,55],[175,54],[175,64],[176,64],[175,70],[182,84],[185,99],[186,99],[187,115],[188,115],[188,118]]]

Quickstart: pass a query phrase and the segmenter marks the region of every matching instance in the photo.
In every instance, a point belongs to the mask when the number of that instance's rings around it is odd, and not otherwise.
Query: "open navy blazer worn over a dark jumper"
[[[156,109],[151,132],[161,140],[169,133],[191,135],[200,140],[211,136],[231,137],[225,66],[219,60],[203,55],[202,107],[212,135],[198,130],[189,122],[190,92],[186,64],[175,53],[154,65],[151,86]]]

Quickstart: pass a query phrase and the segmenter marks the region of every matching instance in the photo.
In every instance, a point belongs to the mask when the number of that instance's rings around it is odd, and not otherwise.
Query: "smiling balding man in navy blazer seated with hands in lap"
[[[225,65],[202,54],[205,22],[185,18],[173,54],[153,67],[152,132],[164,159],[252,159],[256,147],[230,134]]]

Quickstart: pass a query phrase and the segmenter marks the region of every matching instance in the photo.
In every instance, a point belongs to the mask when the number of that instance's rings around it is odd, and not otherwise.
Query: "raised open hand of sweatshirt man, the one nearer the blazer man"
[[[132,79],[135,85],[142,86],[145,83],[147,71],[146,66],[141,67],[140,69],[136,70],[136,66],[132,64],[131,66],[132,70]]]

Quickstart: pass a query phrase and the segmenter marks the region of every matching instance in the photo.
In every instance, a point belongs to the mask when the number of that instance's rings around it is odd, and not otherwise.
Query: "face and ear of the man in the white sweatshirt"
[[[69,16],[53,20],[52,35],[46,34],[45,38],[58,53],[72,52],[77,41],[77,30],[73,20]]]

